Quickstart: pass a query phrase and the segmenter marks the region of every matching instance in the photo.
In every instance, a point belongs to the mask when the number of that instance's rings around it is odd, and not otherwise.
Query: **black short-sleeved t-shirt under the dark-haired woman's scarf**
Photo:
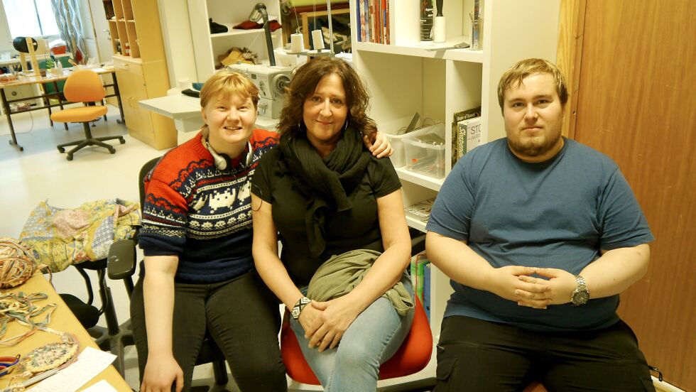
[[[371,158],[361,183],[348,195],[353,208],[344,212],[335,209],[327,212],[324,225],[326,249],[319,257],[312,258],[305,227],[309,200],[296,188],[302,180],[278,168],[281,157],[280,148],[274,148],[261,158],[251,180],[251,192],[273,205],[273,222],[282,244],[281,260],[295,284],[308,284],[317,268],[333,255],[354,249],[384,251],[376,199],[401,187],[391,160]],[[332,202],[327,202],[332,205]]]

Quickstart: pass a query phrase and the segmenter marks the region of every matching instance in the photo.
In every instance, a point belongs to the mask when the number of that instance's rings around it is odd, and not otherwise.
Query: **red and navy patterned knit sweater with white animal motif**
[[[275,132],[255,129],[249,165],[233,159],[219,170],[201,137],[166,153],[145,180],[138,245],[145,256],[178,256],[181,283],[217,283],[254,269],[251,176],[278,144]]]

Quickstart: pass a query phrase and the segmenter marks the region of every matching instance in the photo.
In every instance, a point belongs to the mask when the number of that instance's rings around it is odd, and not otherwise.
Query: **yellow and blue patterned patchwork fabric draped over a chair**
[[[114,241],[134,236],[140,206],[120,199],[86,202],[64,209],[40,202],[29,215],[19,238],[38,263],[62,271],[72,263],[106,258]]]

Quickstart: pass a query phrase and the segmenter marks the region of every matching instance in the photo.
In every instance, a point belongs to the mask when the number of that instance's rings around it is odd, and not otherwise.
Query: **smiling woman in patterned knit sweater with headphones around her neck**
[[[131,297],[141,391],[189,391],[206,330],[241,391],[286,391],[278,302],[251,256],[251,176],[278,134],[256,129],[259,89],[222,70],[200,94],[205,125],[161,158],[145,182]],[[374,141],[374,139],[372,139]],[[391,153],[384,136],[376,156]]]

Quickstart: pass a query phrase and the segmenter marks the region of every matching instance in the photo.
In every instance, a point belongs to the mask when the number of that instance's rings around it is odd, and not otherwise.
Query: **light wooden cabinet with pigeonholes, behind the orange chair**
[[[129,134],[158,150],[177,144],[174,122],[138,101],[163,97],[169,73],[156,0],[104,0]]]

